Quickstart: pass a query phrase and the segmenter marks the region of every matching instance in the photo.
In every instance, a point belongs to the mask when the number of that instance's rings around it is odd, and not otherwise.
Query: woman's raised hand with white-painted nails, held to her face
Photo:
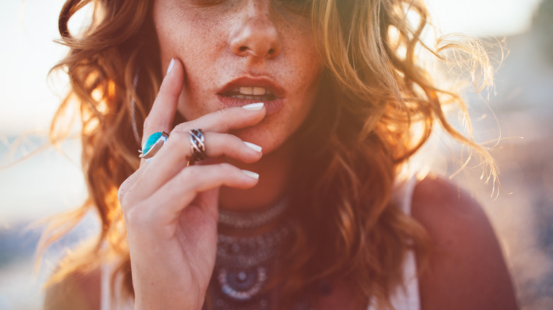
[[[183,82],[184,67],[174,59],[145,120],[143,139],[169,132]],[[215,265],[218,190],[257,184],[257,178],[220,157],[253,163],[262,156],[228,132],[257,124],[265,113],[264,107],[228,108],[179,124],[152,161],[143,160],[121,185],[135,309],[201,309]],[[189,130],[198,128],[208,159],[187,166]]]

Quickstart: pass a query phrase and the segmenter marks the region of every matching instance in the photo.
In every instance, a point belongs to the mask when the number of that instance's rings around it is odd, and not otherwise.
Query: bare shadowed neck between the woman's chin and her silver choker
[[[279,201],[286,192],[291,173],[292,142],[288,139],[281,147],[263,155],[257,163],[243,164],[229,161],[235,166],[259,173],[255,187],[240,190],[223,187],[219,192],[219,205],[224,209],[248,211],[266,207]]]

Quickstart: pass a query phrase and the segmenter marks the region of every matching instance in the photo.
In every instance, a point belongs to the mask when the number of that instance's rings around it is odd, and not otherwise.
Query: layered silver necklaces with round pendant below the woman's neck
[[[220,209],[219,225],[231,229],[259,229],[275,223],[288,207],[286,199],[272,207],[253,212]],[[217,256],[209,296],[214,310],[269,310],[274,308],[270,292],[265,290],[274,274],[282,246],[291,242],[291,222],[271,231],[249,236],[218,234]],[[301,302],[294,310],[310,309]]]

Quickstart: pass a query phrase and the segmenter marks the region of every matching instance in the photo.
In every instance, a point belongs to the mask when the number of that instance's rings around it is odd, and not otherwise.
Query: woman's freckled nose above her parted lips
[[[272,59],[281,52],[271,1],[247,0],[230,34],[230,49],[240,57]]]

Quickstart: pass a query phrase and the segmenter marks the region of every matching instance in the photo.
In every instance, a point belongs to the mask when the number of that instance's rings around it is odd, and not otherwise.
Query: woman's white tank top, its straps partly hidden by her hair
[[[417,178],[410,178],[405,183],[396,187],[394,195],[396,203],[406,214],[411,212],[411,201]],[[101,268],[101,310],[133,310],[132,300],[122,300],[119,294],[115,294],[111,300],[111,272],[113,265],[102,265]],[[116,279],[115,292],[121,292],[121,281]],[[403,261],[403,285],[396,289],[391,297],[391,304],[396,310],[420,310],[420,297],[418,292],[417,264],[415,253],[409,251]],[[376,310],[374,304],[370,304],[367,310]]]

